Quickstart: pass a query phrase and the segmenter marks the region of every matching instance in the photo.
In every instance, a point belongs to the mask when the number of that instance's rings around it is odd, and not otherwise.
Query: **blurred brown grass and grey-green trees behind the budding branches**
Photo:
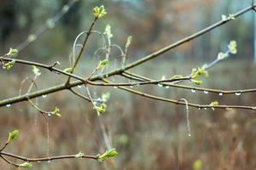
[[[9,48],[18,48],[18,59],[47,65],[58,60],[60,68],[67,68],[74,39],[90,26],[92,8],[102,4],[108,14],[97,21],[96,30],[103,32],[106,25],[110,25],[112,42],[121,48],[125,48],[126,38],[132,36],[127,54],[130,63],[212,25],[221,20],[222,14],[246,8],[251,0],[1,0],[1,54],[8,53]],[[192,68],[216,59],[219,52],[227,50],[230,40],[236,40],[238,53],[214,66],[201,86],[224,90],[255,88],[254,34],[255,13],[251,11],[131,71],[156,79],[163,75],[188,75]],[[76,70],[79,76],[89,76],[104,57],[95,55],[101,47],[101,37],[91,36]],[[120,65],[118,55],[118,50],[113,49],[108,70]],[[67,79],[49,71],[41,72],[37,80],[39,89],[61,84]],[[30,66],[15,65],[10,71],[1,69],[0,99],[19,95],[20,82],[26,77],[33,77]],[[110,80],[125,81],[119,77]],[[30,82],[23,85],[22,94],[29,85]],[[84,88],[76,89],[86,94]],[[218,96],[152,85],[135,89],[168,99],[185,98],[198,104],[218,100],[220,105],[256,105],[255,94]],[[256,168],[253,111],[189,108],[189,137],[184,106],[145,99],[115,88],[90,87],[90,90],[95,99],[110,92],[106,114],[96,116],[88,102],[69,91],[38,98],[40,108],[52,111],[58,106],[61,110],[61,118],[47,117],[49,144],[44,118],[26,102],[0,108],[1,144],[9,131],[19,129],[19,139],[6,150],[21,156],[47,156],[48,148],[49,156],[79,151],[96,155],[107,149],[108,142],[119,151],[118,156],[103,163],[62,160],[35,163],[32,169]],[[0,160],[0,167],[15,169],[3,160]]]

